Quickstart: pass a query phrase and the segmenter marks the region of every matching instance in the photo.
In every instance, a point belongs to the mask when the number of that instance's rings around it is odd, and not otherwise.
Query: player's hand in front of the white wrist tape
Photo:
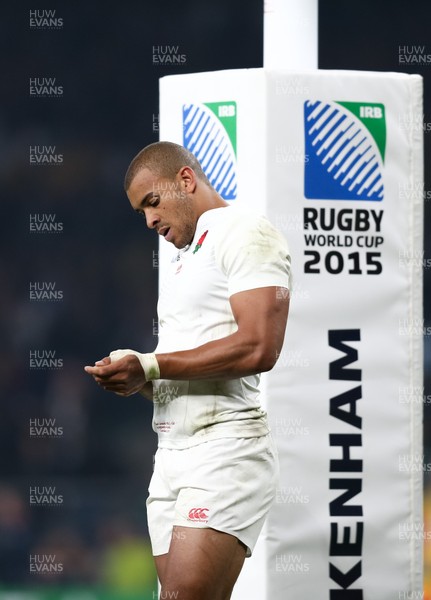
[[[147,383],[141,363],[134,354],[114,362],[107,356],[98,360],[94,367],[86,366],[84,370],[105,390],[119,396],[136,394]]]

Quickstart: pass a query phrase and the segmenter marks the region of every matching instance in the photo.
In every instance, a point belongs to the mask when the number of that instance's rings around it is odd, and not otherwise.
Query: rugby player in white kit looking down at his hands
[[[259,379],[283,345],[289,250],[266,217],[226,202],[177,144],[141,150],[125,191],[178,250],[161,286],[158,344],[115,350],[85,370],[105,390],[154,403],[147,512],[160,598],[228,600],[275,497]]]

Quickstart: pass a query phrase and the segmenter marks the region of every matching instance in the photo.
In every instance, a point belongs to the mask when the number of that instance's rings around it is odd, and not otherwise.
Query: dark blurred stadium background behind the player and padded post
[[[30,11],[37,23],[47,10],[53,26],[30,25]],[[431,56],[399,61],[400,46],[431,55],[429,1],[320,0],[319,13],[320,68],[424,77],[429,165]],[[99,390],[83,365],[156,344],[157,240],[122,180],[136,152],[158,139],[158,79],[261,67],[263,3],[9,3],[0,34],[0,590],[155,598],[145,516],[152,407]],[[185,60],[154,64],[153,46],[177,46]],[[30,78],[51,85],[50,97],[30,95]],[[425,259],[429,229],[427,200]],[[428,268],[425,327],[430,284]],[[425,403],[425,460],[429,423]]]

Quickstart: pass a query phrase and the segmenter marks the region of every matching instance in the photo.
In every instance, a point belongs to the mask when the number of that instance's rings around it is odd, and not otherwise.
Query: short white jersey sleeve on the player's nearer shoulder
[[[290,287],[290,253],[283,235],[265,216],[235,214],[220,228],[218,267],[228,279],[229,297],[261,287]]]

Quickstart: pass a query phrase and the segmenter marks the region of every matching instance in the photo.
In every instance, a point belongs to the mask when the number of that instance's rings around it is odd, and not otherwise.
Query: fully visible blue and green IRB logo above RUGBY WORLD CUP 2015
[[[383,104],[304,103],[304,195],[310,200],[383,200]]]

